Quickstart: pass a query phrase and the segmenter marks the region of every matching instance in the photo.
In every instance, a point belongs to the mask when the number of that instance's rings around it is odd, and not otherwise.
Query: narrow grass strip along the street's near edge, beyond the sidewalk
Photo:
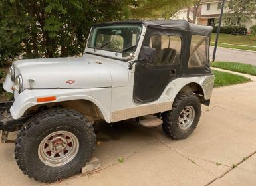
[[[215,68],[221,68],[233,72],[240,72],[243,74],[256,76],[256,66],[253,66],[251,64],[242,64],[239,62],[212,62],[211,66]]]

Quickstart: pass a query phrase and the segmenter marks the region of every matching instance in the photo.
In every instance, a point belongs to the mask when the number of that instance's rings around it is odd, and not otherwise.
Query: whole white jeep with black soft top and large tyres
[[[52,182],[78,173],[95,148],[93,124],[136,118],[162,125],[172,139],[196,128],[201,104],[209,106],[212,27],[187,21],[119,21],[92,27],[81,58],[13,63],[3,88],[2,141],[15,141],[19,168]]]

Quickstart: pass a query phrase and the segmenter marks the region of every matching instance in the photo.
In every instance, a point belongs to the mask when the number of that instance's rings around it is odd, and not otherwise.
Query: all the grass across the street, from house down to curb
[[[211,34],[211,46],[215,45],[216,33]],[[243,46],[249,45],[249,46]],[[256,51],[256,38],[244,35],[219,34],[218,46],[224,48],[235,48],[240,50]],[[255,47],[253,47],[255,46]]]

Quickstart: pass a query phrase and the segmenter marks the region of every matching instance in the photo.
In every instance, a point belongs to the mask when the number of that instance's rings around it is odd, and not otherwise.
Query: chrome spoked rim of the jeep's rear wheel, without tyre
[[[180,112],[179,126],[182,130],[188,129],[195,118],[195,109],[193,106],[186,106],[182,112]]]

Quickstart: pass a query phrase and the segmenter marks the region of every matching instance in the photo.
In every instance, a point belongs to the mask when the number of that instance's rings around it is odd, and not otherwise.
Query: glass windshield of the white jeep
[[[135,52],[141,31],[141,25],[93,27],[88,48],[118,52],[122,53],[122,57],[126,57]]]

